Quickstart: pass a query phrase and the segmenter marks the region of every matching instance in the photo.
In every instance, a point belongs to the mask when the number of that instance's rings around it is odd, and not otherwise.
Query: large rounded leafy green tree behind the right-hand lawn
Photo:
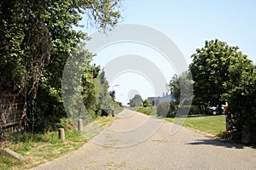
[[[247,60],[247,56],[238,49],[218,39],[206,41],[204,48],[196,49],[189,69],[195,81],[194,94],[198,103],[222,105],[221,96],[229,90],[224,84],[230,81],[230,68]],[[221,112],[221,107],[218,109]]]

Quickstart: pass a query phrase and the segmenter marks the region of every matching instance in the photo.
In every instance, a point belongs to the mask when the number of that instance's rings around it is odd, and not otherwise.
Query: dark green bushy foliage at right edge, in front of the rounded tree
[[[230,82],[224,84],[230,90],[223,98],[229,101],[230,124],[238,131],[243,126],[256,126],[256,70],[252,62],[244,59],[230,67]],[[246,129],[247,130],[247,129]]]

